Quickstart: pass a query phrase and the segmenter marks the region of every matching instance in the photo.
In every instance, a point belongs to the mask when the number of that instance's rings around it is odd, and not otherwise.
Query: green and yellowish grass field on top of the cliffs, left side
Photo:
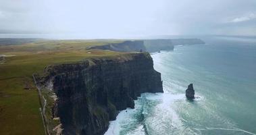
[[[87,47],[121,41],[35,41],[0,46],[0,134],[45,134],[39,113],[39,96],[32,74],[47,65],[72,63],[90,57],[115,57],[122,53],[86,50]]]

